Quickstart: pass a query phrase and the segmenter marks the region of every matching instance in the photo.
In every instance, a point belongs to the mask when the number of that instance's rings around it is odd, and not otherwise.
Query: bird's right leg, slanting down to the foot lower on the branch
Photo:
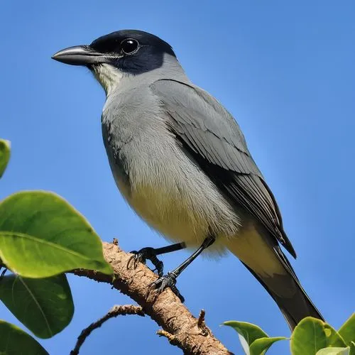
[[[182,273],[182,271],[184,271],[185,268],[187,268],[187,266],[189,266],[190,263],[192,263],[192,261],[194,261],[195,258],[197,258],[197,256],[199,256],[200,253],[204,251],[204,249],[207,249],[210,245],[212,245],[215,240],[216,239],[214,238],[214,236],[208,236],[206,239],[204,239],[200,248],[197,249],[197,251],[195,251],[195,253],[193,253],[192,256],[187,258],[182,264],[180,264],[177,268],[175,268],[175,270],[170,271],[167,275],[160,276],[158,280],[155,280],[149,286],[155,288],[158,291],[158,293],[162,293],[163,290],[165,290],[165,288],[170,287],[173,293],[175,293],[175,295],[177,295],[180,298],[181,302],[184,302],[185,301],[184,297],[182,297],[178,288],[176,288],[175,286],[176,278],[178,278],[178,275],[180,275],[180,273]]]

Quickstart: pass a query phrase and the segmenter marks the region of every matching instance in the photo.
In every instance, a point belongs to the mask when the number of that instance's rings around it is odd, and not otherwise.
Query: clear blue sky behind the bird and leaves
[[[236,117],[273,190],[297,251],[302,285],[339,327],[355,310],[354,1],[3,1],[0,13],[0,136],[12,143],[0,197],[52,190],[127,251],[162,246],[122,200],[102,144],[104,92],[88,70],[50,59],[99,35],[138,28],[167,40],[191,80]],[[165,269],[185,251],[165,256]],[[41,344],[69,354],[80,331],[114,304],[108,285],[70,275],[75,315]],[[241,354],[225,320],[288,327],[239,261],[200,258],[178,286],[186,305],[207,311],[214,334]],[[0,305],[0,317],[16,322]],[[94,332],[80,354],[181,354],[146,318],[122,317]],[[287,354],[278,344],[270,354]]]

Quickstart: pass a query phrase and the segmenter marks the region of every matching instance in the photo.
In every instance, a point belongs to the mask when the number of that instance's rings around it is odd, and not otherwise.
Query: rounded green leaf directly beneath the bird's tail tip
[[[291,335],[290,348],[293,355],[314,355],[329,346],[345,347],[346,344],[329,324],[313,317],[301,320]]]

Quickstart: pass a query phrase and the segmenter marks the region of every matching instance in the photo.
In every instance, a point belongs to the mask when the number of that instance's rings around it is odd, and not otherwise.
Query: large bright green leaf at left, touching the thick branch
[[[92,226],[52,192],[18,192],[1,202],[0,258],[28,278],[75,268],[112,273]]]

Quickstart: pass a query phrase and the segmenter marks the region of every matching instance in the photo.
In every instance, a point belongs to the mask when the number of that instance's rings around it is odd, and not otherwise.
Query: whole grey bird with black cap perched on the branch
[[[283,252],[296,258],[239,124],[190,81],[170,44],[121,30],[52,58],[87,67],[102,85],[102,136],[116,185],[141,219],[175,242],[132,251],[133,266],[150,260],[158,271],[151,288],[171,288],[183,301],[180,273],[202,252],[230,251],[275,300],[291,330],[307,316],[324,320]],[[157,256],[185,248],[195,251],[164,274]]]

